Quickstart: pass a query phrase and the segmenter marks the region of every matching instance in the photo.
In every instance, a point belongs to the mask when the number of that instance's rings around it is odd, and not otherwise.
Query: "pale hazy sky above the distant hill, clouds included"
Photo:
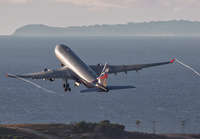
[[[200,0],[0,0],[0,35],[27,24],[53,27],[200,21]]]

